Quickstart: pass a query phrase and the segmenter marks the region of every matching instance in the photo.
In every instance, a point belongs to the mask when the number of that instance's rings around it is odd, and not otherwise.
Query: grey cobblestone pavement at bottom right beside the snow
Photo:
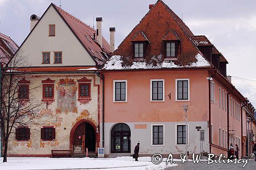
[[[241,164],[234,164],[234,163],[212,163],[207,165],[207,161],[203,161],[203,164],[200,163],[196,163],[194,164],[192,161],[187,161],[184,163],[181,162],[176,162],[178,164],[178,166],[174,166],[174,167],[167,167],[165,168],[168,170],[173,170],[173,169],[189,169],[189,170],[193,170],[193,169],[256,169],[256,162],[254,160],[249,160],[248,163],[245,165],[244,168],[242,168],[242,166],[244,165],[244,163]]]

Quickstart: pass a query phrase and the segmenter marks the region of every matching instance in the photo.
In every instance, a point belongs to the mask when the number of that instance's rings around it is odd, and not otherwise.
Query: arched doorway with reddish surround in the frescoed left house
[[[86,153],[96,151],[96,132],[95,127],[85,120],[78,122],[71,130],[70,145],[73,153]]]

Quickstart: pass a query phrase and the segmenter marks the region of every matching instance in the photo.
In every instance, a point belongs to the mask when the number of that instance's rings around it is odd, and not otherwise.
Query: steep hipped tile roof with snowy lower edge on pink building
[[[143,61],[133,61],[131,41],[138,32],[143,32],[150,42]],[[159,69],[213,67],[202,55],[195,42],[194,34],[185,23],[166,5],[158,0],[140,20],[137,26],[114,51],[104,69]],[[180,40],[177,60],[164,60],[163,40]],[[120,60],[120,61],[118,61]],[[109,64],[111,63],[111,64]],[[116,65],[120,65],[116,66]],[[138,65],[138,67],[136,67]],[[145,66],[145,67],[143,67]]]

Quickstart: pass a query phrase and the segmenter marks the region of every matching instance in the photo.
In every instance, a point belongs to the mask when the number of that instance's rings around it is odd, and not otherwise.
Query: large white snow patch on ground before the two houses
[[[151,162],[151,157],[139,157],[139,161],[135,161],[132,157],[117,158],[38,158],[38,157],[10,157],[8,162],[3,163],[0,159],[0,169],[3,170],[28,170],[28,169],[135,169],[135,170],[156,170],[164,169],[169,166],[165,162],[155,165]]]

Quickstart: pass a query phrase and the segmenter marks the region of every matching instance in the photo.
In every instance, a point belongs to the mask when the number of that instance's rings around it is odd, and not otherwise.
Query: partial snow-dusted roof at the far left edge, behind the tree
[[[7,64],[15,52],[18,49],[18,45],[11,39],[2,33],[0,33],[0,62]]]

